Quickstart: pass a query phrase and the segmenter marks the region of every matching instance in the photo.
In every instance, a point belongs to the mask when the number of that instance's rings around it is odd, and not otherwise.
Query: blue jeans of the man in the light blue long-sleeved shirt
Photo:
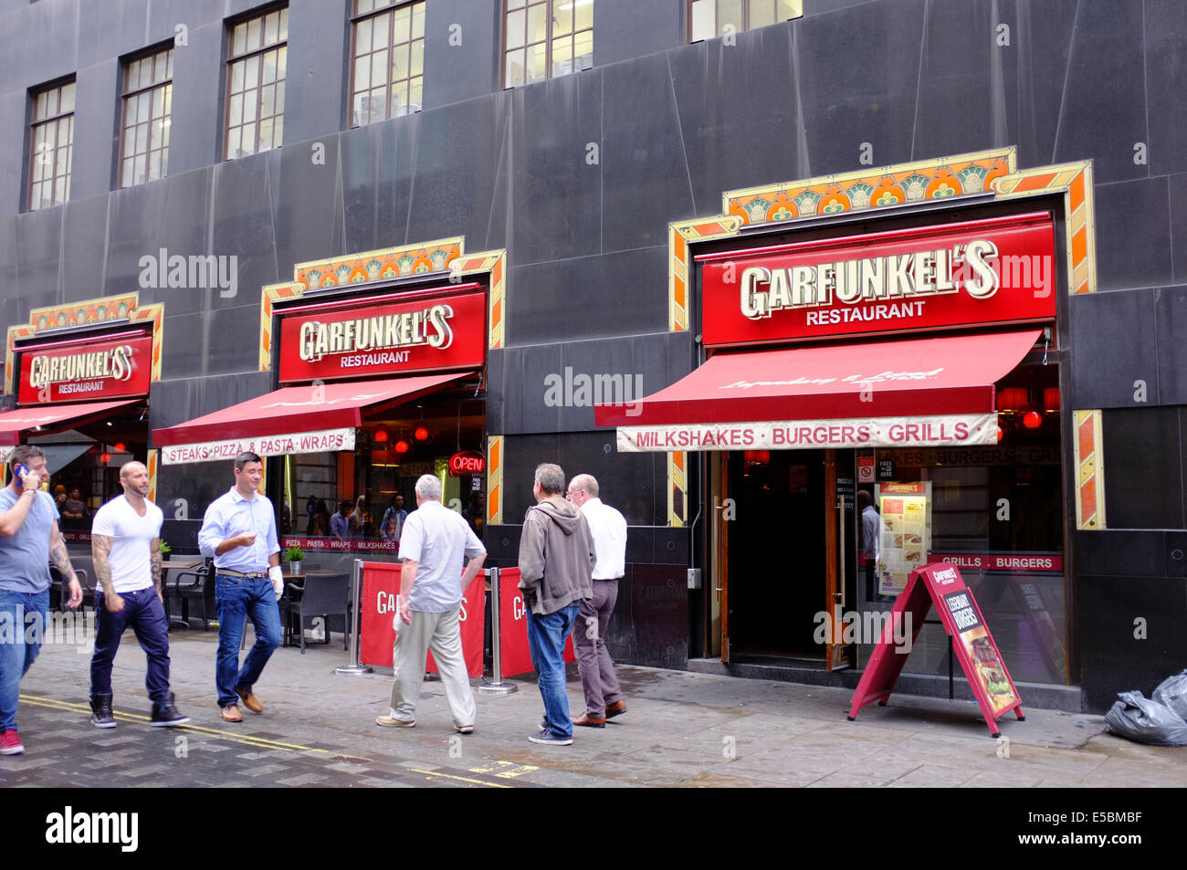
[[[260,679],[272,653],[280,646],[280,608],[272,580],[267,577],[233,577],[215,574],[215,601],[218,605],[218,663],[215,666],[215,686],[218,706],[239,704],[236,688],[245,692]],[[239,668],[239,643],[243,637],[243,618],[250,617],[255,627],[255,646]]]

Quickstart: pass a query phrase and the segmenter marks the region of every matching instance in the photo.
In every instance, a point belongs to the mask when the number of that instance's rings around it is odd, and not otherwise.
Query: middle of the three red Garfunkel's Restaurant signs
[[[485,326],[485,293],[292,315],[280,326],[280,380],[478,367]]]

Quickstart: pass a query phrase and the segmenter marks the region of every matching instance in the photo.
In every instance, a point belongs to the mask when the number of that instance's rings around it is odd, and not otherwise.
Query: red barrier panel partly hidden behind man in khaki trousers
[[[388,561],[363,563],[362,634],[358,637],[358,661],[376,667],[392,667],[392,647],[400,625],[400,565]],[[482,677],[483,628],[485,623],[487,586],[480,573],[462,596],[462,655],[470,677]],[[429,654],[425,669],[437,673],[437,663]]]

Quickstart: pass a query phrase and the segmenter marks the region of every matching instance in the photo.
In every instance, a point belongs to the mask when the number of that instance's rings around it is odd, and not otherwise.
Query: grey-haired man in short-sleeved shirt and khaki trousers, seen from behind
[[[482,569],[487,548],[462,515],[442,504],[442,482],[432,475],[417,481],[417,509],[400,536],[400,620],[395,635],[395,681],[389,716],[376,725],[412,728],[425,679],[425,650],[432,649],[453,728],[474,731],[476,709],[462,655],[462,593]],[[463,560],[465,570],[462,570]],[[471,611],[472,612],[472,611]]]

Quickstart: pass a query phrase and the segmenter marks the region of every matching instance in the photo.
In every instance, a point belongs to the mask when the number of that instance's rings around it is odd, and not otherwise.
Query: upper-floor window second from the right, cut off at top
[[[594,65],[594,0],[507,0],[503,87]]]

